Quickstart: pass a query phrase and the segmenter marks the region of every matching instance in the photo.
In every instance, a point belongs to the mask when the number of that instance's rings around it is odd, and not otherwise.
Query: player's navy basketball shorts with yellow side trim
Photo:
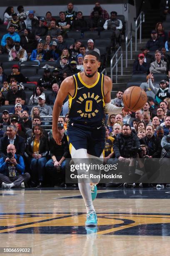
[[[90,127],[78,123],[69,124],[67,127],[69,148],[76,150],[87,149],[87,154],[100,157],[105,148],[105,127]]]

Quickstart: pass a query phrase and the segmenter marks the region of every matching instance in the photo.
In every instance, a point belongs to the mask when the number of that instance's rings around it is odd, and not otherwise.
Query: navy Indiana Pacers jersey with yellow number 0
[[[69,95],[69,123],[104,124],[104,75],[97,74],[97,80],[92,85],[82,81],[80,72],[72,76],[75,81],[75,94]]]

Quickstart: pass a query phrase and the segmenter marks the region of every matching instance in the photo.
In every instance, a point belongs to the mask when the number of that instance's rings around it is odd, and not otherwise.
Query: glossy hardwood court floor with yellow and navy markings
[[[170,189],[99,190],[94,206],[98,227],[85,228],[79,190],[2,189],[0,247],[32,247],[36,256],[170,255]]]

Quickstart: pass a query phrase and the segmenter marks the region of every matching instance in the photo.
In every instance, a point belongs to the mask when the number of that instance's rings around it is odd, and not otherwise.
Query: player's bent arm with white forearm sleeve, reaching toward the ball
[[[104,79],[104,101],[105,101],[105,109],[106,113],[108,114],[128,114],[130,113],[129,109],[127,108],[120,108],[113,104],[111,104],[111,91],[112,91],[112,80],[110,77],[105,76]]]

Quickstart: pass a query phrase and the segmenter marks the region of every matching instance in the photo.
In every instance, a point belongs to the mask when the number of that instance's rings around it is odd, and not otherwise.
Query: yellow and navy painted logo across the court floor
[[[170,236],[170,214],[97,213],[97,234]],[[0,233],[87,234],[84,213],[0,213]]]

